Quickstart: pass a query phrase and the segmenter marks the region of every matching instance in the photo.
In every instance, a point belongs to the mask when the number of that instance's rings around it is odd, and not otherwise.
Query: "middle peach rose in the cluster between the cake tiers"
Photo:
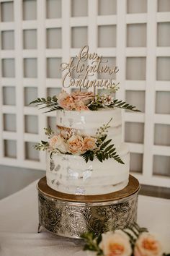
[[[82,152],[82,148],[84,146],[84,140],[79,135],[73,135],[71,138],[67,141],[68,142],[68,152],[80,155]]]

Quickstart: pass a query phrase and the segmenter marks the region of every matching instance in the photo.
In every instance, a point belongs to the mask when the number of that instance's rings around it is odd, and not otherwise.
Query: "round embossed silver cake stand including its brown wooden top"
[[[107,195],[69,195],[48,187],[46,177],[37,184],[40,228],[70,238],[86,231],[95,234],[125,229],[137,219],[138,179],[130,175],[128,186]]]

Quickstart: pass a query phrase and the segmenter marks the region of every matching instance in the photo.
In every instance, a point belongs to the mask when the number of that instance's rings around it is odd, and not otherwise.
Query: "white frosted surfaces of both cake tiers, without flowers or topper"
[[[123,189],[128,184],[130,153],[122,142],[121,109],[98,111],[56,111],[56,126],[76,129],[80,135],[95,137],[97,129],[107,124],[107,139],[112,139],[124,164],[108,158],[102,163],[94,158],[84,161],[80,155],[54,153],[47,155],[47,184],[58,192],[73,195],[101,195]]]

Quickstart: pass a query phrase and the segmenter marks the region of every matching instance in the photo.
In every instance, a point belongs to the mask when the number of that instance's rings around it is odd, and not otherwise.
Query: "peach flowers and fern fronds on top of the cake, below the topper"
[[[117,88],[112,88],[110,90],[104,90],[103,93],[94,95],[90,91],[80,91],[68,94],[66,91],[62,90],[58,95],[48,98],[37,98],[30,104],[36,104],[42,108],[49,108],[46,112],[57,111],[58,109],[65,109],[71,111],[83,111],[91,110],[97,111],[99,108],[123,108],[130,111],[139,112],[139,110],[125,101],[120,101],[115,99],[115,91]]]

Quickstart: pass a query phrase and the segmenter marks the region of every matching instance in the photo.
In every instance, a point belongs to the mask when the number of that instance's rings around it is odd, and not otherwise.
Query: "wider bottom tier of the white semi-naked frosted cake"
[[[112,158],[86,163],[78,155],[48,154],[48,186],[59,192],[76,195],[102,195],[123,189],[128,184],[129,150],[122,143],[119,152],[125,164]]]

